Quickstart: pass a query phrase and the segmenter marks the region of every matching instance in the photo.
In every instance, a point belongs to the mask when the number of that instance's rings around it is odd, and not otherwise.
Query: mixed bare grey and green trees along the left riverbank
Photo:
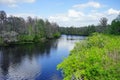
[[[60,36],[59,25],[48,20],[9,16],[0,11],[0,44],[14,42],[37,42]]]

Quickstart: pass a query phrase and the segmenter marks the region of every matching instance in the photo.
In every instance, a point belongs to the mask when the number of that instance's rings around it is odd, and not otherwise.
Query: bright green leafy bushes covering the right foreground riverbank
[[[95,33],[76,43],[57,69],[62,69],[64,80],[119,80],[120,36]]]

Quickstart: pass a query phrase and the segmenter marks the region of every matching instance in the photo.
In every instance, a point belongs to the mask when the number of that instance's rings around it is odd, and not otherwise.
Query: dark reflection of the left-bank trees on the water
[[[26,56],[30,60],[32,60],[33,56],[49,56],[51,49],[57,49],[57,40],[39,44],[0,47],[0,69],[2,70],[0,74],[4,77],[7,76],[9,66],[20,65]]]

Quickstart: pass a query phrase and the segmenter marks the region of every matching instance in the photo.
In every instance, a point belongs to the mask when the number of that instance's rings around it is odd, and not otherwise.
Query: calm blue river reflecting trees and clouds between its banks
[[[62,80],[56,66],[83,39],[62,35],[45,43],[0,47],[0,80]]]

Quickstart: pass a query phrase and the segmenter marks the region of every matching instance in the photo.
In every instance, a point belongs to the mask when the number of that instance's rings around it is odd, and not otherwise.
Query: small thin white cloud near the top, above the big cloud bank
[[[73,7],[74,8],[87,8],[87,7],[93,7],[93,8],[100,8],[102,5],[98,2],[88,2],[88,3],[85,3],[85,4],[77,4],[77,5],[74,5]]]

